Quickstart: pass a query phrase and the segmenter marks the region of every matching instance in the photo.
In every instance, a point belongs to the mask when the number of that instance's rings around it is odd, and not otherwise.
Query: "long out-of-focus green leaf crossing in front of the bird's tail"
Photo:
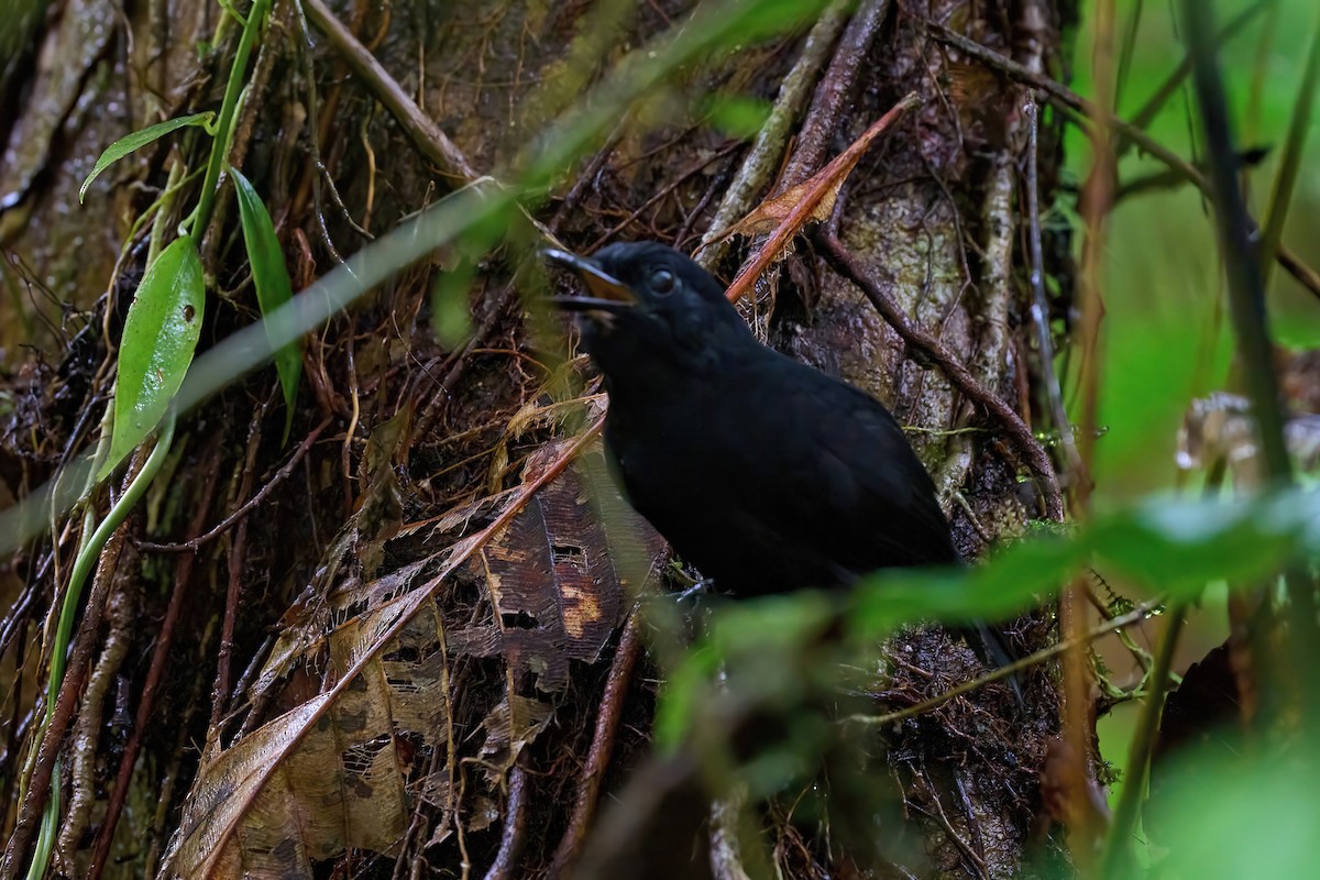
[[[1098,517],[1072,533],[1036,534],[981,563],[882,571],[847,592],[842,619],[853,644],[871,644],[906,623],[1002,620],[1053,596],[1088,563],[1142,582],[1155,594],[1195,598],[1209,582],[1259,586],[1294,559],[1320,558],[1320,491],[1287,489],[1253,499],[1154,499]],[[717,611],[708,635],[668,677],[657,739],[682,741],[714,669],[755,657],[760,678],[792,687],[809,670],[795,644],[824,628],[828,594],[748,599]],[[785,678],[787,677],[787,678]]]

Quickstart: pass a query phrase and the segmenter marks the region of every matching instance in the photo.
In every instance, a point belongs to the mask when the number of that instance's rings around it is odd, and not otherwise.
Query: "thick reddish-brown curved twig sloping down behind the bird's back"
[[[879,284],[857,263],[857,259],[847,251],[842,241],[829,231],[821,230],[817,234],[817,243],[821,245],[825,259],[845,278],[851,281],[866,294],[886,322],[894,327],[895,332],[903,338],[908,346],[924,352],[929,360],[936,363],[949,381],[962,392],[972,402],[981,406],[993,416],[1005,431],[1015,441],[1018,450],[1027,462],[1040,483],[1041,495],[1045,501],[1045,516],[1056,522],[1064,521],[1063,496],[1059,491],[1059,478],[1055,476],[1053,464],[1040,442],[1031,434],[1022,417],[1012,410],[1008,404],[999,400],[997,394],[978,383],[968,368],[964,367],[939,339],[915,325],[898,305],[886,294]]]

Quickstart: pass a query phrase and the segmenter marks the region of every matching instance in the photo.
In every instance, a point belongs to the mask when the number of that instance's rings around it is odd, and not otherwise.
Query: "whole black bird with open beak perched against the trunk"
[[[628,500],[718,590],[755,596],[958,562],[890,410],[760,344],[705,269],[655,241],[546,256],[591,293],[554,302],[586,318]],[[1006,661],[998,639],[972,641]]]

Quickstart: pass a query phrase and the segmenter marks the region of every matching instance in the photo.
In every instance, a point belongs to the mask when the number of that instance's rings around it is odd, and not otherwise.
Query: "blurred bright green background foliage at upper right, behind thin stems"
[[[1176,4],[1117,0],[1115,5],[1118,46],[1134,16],[1140,16],[1130,62],[1117,87],[1118,115],[1130,119],[1185,51],[1175,21]],[[1224,26],[1253,5],[1255,0],[1216,0],[1213,9]],[[1249,172],[1250,207],[1261,220],[1269,207],[1316,15],[1316,5],[1308,0],[1276,0],[1221,46],[1238,144],[1270,148]],[[1094,96],[1094,0],[1084,4],[1081,16],[1072,87]],[[1272,22],[1271,16],[1276,16]],[[1193,103],[1188,80],[1148,132],[1195,160],[1199,123]],[[1316,128],[1320,124],[1313,123],[1283,235],[1284,244],[1312,267],[1320,265]],[[1080,185],[1090,168],[1090,144],[1069,128],[1065,150],[1067,173]],[[1158,161],[1134,149],[1119,162],[1119,179],[1131,182],[1163,170]],[[1232,338],[1213,216],[1191,185],[1131,195],[1117,204],[1107,220],[1102,285],[1100,424],[1109,431],[1096,446],[1096,500],[1106,505],[1172,484],[1175,437],[1188,401],[1224,389],[1228,380]],[[1270,317],[1278,342],[1299,348],[1320,346],[1320,302],[1286,272],[1272,276]],[[1076,364],[1071,372],[1069,377],[1076,379]]]

